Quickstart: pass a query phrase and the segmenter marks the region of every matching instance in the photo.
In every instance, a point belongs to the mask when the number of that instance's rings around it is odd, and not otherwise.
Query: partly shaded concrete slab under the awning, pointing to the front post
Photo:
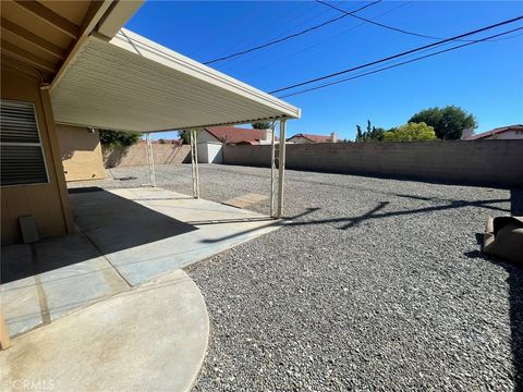
[[[131,285],[278,229],[259,213],[162,188],[74,192],[75,222]]]

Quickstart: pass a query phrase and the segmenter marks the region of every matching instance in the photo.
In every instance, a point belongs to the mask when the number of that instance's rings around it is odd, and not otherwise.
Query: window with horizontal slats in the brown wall
[[[2,186],[49,182],[33,103],[0,101],[0,160]]]

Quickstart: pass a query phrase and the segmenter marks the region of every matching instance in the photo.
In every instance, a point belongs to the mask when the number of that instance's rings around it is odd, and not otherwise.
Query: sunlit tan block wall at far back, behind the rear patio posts
[[[156,164],[177,164],[190,160],[191,146],[173,144],[153,144]],[[146,143],[138,143],[127,148],[104,149],[106,168],[133,167],[149,164]]]

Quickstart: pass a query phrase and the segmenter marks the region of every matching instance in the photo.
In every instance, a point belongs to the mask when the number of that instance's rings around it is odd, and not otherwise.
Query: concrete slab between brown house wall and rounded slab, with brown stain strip
[[[129,285],[81,235],[2,248],[2,313],[11,336]]]

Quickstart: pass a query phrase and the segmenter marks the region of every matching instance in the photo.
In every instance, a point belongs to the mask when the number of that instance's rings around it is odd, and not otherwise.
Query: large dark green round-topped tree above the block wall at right
[[[434,127],[436,136],[445,140],[457,140],[461,138],[463,130],[477,127],[476,119],[473,114],[457,106],[447,106],[445,108],[428,108],[414,114],[409,122],[421,123]]]

